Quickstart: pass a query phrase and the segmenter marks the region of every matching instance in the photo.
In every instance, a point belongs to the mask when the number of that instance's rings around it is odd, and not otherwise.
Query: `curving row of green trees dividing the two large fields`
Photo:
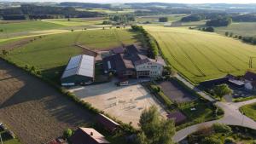
[[[148,56],[150,58],[155,59],[156,56],[159,55],[159,52],[158,45],[154,41],[154,38],[148,34],[148,32],[143,28],[143,26],[131,26],[131,29],[135,32],[141,32],[143,34],[145,43],[148,47]]]

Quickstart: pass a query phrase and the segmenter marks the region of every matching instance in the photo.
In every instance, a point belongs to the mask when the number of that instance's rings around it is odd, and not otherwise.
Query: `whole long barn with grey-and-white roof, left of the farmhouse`
[[[61,85],[91,84],[95,78],[95,57],[90,55],[73,56],[62,74]]]

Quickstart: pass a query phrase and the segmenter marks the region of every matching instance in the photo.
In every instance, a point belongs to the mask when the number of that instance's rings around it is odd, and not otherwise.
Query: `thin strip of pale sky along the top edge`
[[[0,0],[5,2],[83,2],[83,3],[256,3],[256,0]]]

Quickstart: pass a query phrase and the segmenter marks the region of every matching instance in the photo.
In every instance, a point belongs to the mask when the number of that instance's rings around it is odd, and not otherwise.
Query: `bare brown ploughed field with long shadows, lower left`
[[[40,144],[67,128],[90,122],[91,115],[38,78],[0,59],[0,121],[25,144]]]

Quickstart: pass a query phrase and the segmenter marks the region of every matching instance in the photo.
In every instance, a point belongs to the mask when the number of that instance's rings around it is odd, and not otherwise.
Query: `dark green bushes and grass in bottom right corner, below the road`
[[[212,127],[189,135],[185,140],[189,144],[255,144],[256,130],[240,126],[228,126],[225,124],[213,124]]]

